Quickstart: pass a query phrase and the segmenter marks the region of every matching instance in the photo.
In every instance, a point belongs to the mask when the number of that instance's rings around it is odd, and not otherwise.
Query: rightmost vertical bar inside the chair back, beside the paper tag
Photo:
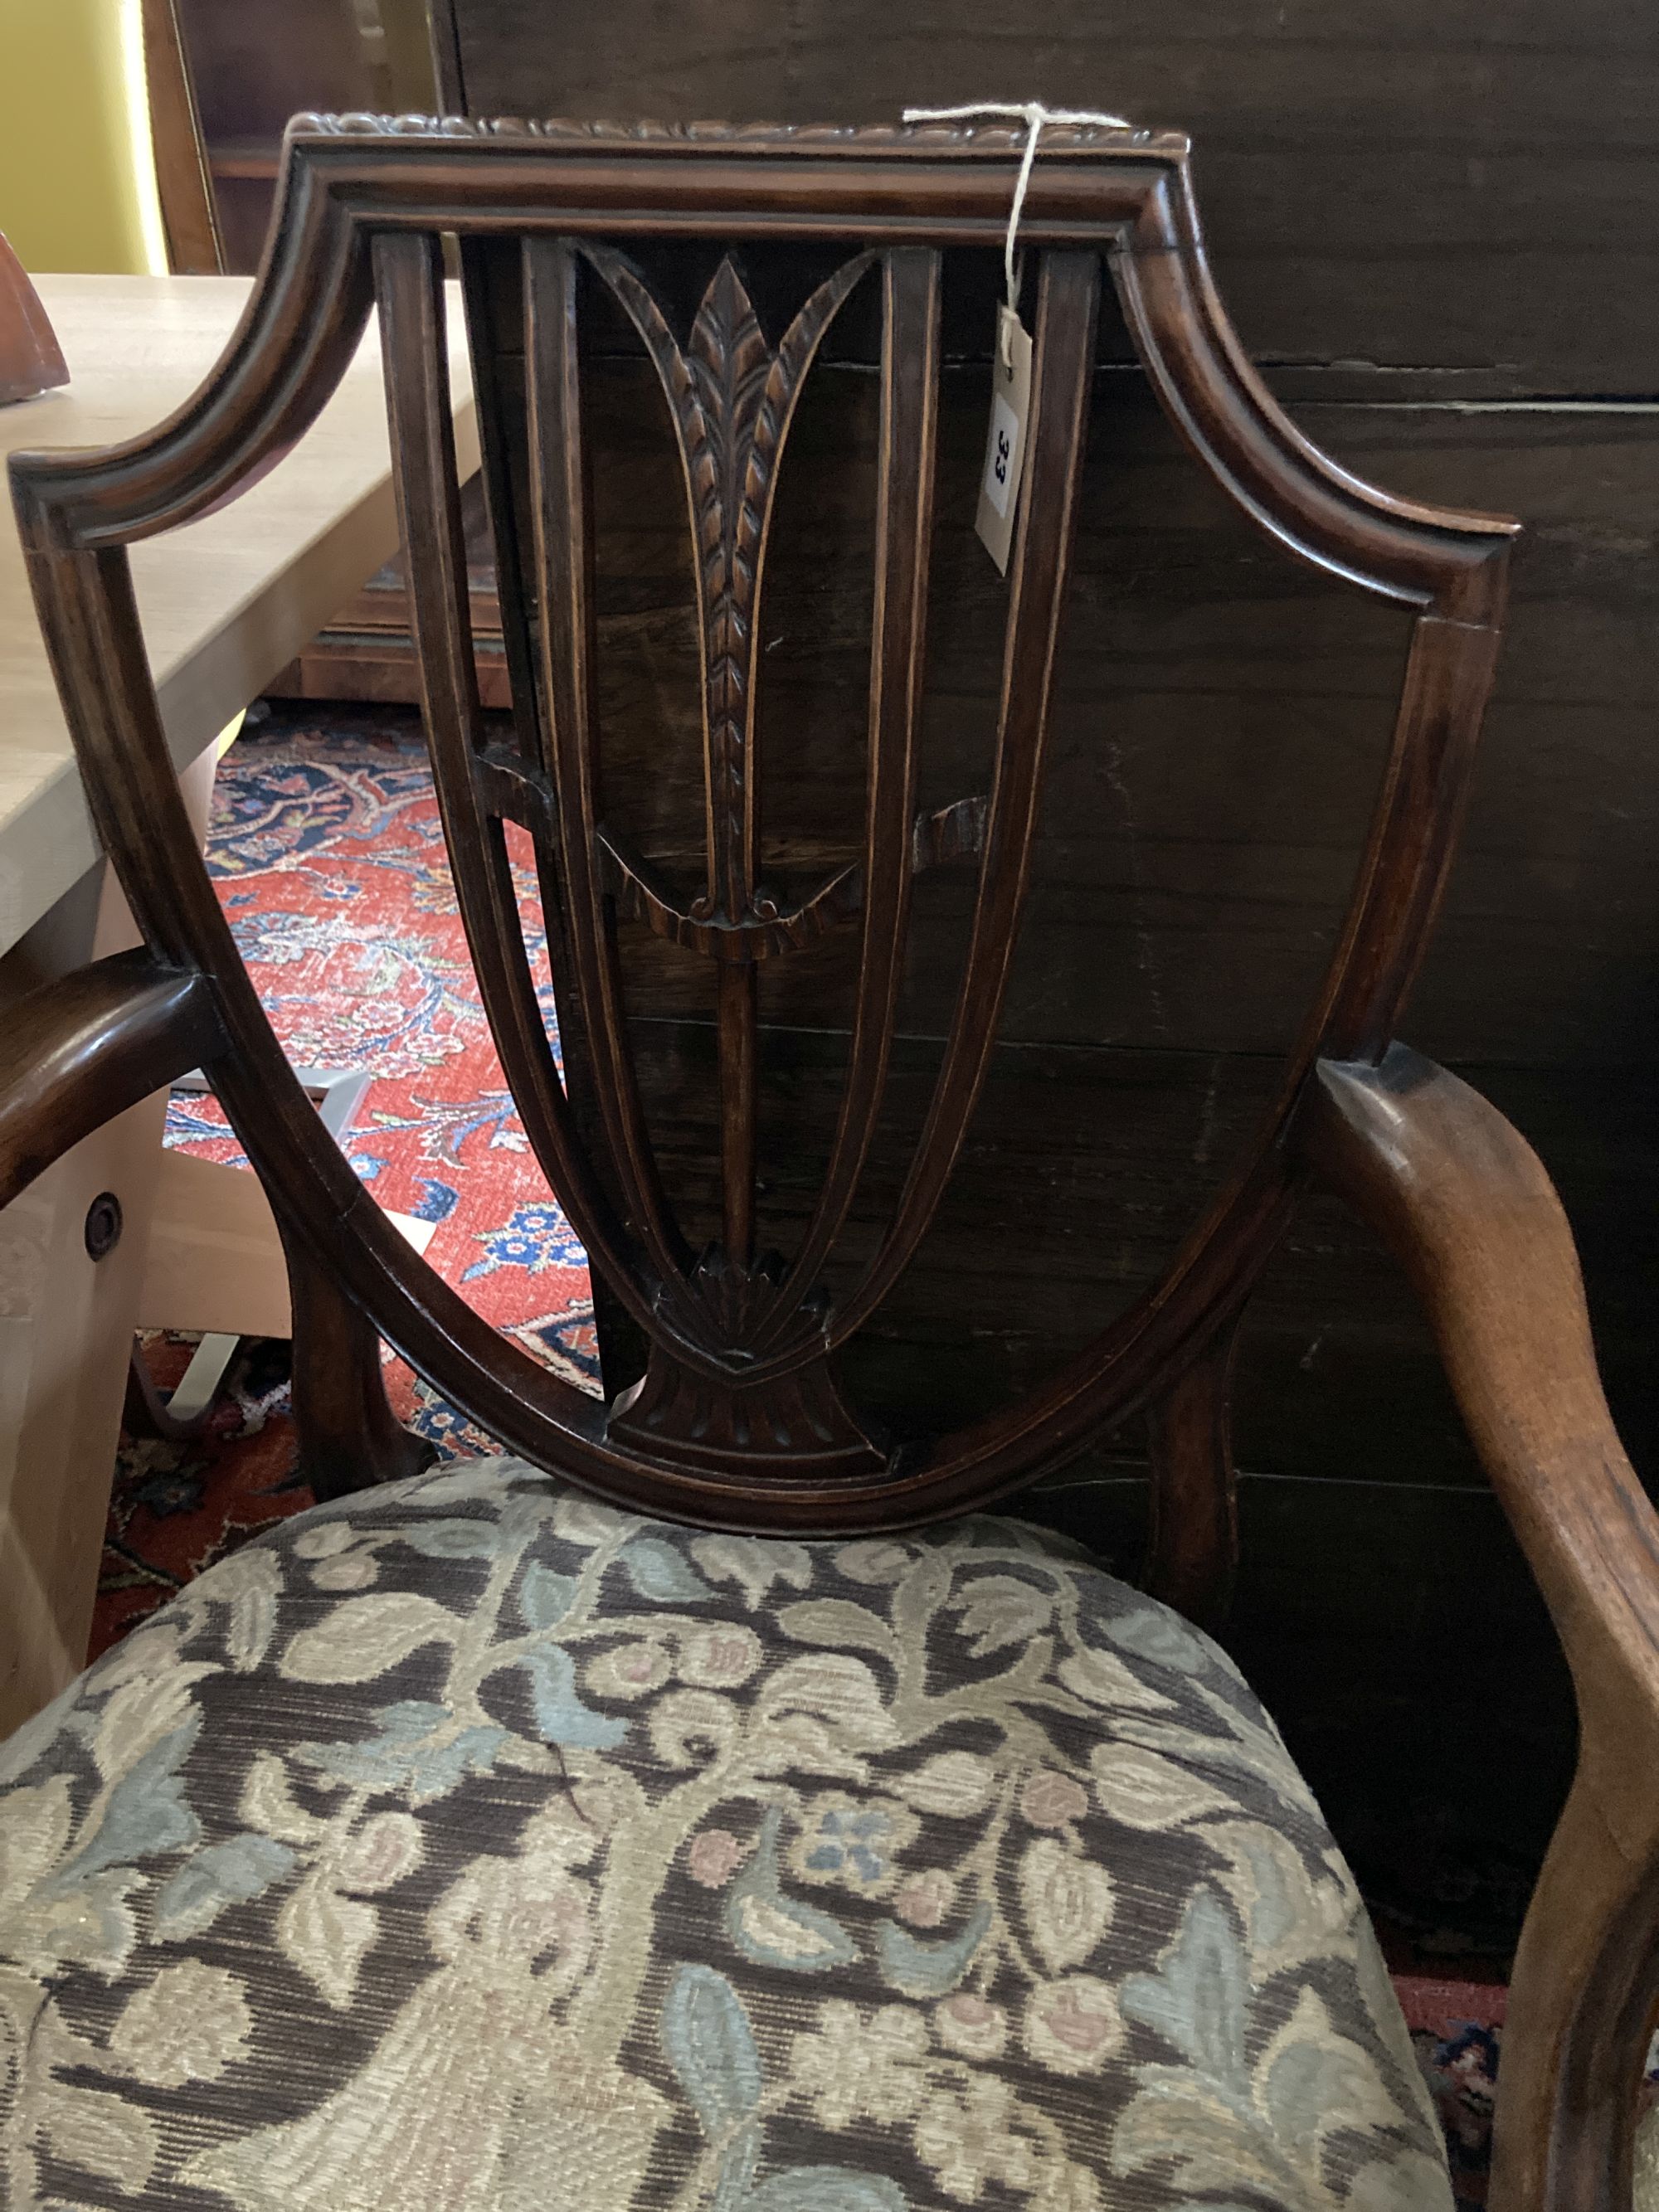
[[[852,1336],[914,1256],[962,1150],[969,1115],[995,1046],[1002,995],[1009,987],[1031,876],[1031,838],[1037,825],[1048,739],[1048,695],[1077,526],[1097,303],[1099,254],[1048,252],[1042,257],[1026,471],[1002,657],[998,759],[984,825],[984,863],[973,905],[973,931],[945,1044],[945,1062],[933,1084],[916,1159],[880,1252],[865,1281],[836,1314],[832,1343],[845,1343]]]

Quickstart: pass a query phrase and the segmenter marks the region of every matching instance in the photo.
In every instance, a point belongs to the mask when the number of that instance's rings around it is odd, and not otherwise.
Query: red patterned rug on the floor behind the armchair
[[[529,1157],[478,1006],[418,719],[265,714],[219,768],[208,863],[290,1057],[374,1077],[345,1133],[352,1166],[383,1206],[434,1223],[427,1259],[480,1314],[597,1387],[586,1259]],[[529,869],[522,889],[538,914]],[[551,1029],[544,947],[531,945]],[[168,1144],[241,1159],[212,1099],[177,1097]],[[175,1336],[146,1345],[157,1385],[179,1380],[190,1349]],[[387,1380],[400,1418],[440,1453],[493,1449],[403,1363]],[[122,1438],[91,1655],[305,1504],[288,1345],[246,1343],[201,1436]],[[1458,2203],[1473,2212],[1486,2203],[1506,1991],[1500,1978],[1447,1980],[1394,1940],[1389,1964]]]

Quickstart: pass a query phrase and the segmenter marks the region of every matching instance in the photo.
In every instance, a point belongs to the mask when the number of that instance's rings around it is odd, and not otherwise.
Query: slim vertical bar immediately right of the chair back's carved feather
[[[880,460],[876,604],[869,646],[869,801],[865,909],[847,1088],[818,1203],[779,1298],[781,1325],[823,1267],[847,1219],[876,1133],[905,971],[914,878],[918,726],[927,661],[927,568],[933,542],[940,257],[883,257]],[[759,1347],[757,1347],[759,1349]]]

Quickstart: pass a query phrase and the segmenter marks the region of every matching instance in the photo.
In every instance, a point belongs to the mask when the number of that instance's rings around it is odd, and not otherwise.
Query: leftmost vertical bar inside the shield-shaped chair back
[[[648,1290],[571,1126],[546,1042],[502,825],[478,790],[480,706],[449,403],[442,254],[429,232],[374,241],[398,524],[449,867],[495,1051],[524,1130],[591,1259],[639,1316]]]

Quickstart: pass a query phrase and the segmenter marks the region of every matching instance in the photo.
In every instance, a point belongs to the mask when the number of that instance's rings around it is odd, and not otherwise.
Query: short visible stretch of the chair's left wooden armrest
[[[0,1022],[0,1206],[102,1121],[223,1048],[208,978],[144,951],[29,991]]]

